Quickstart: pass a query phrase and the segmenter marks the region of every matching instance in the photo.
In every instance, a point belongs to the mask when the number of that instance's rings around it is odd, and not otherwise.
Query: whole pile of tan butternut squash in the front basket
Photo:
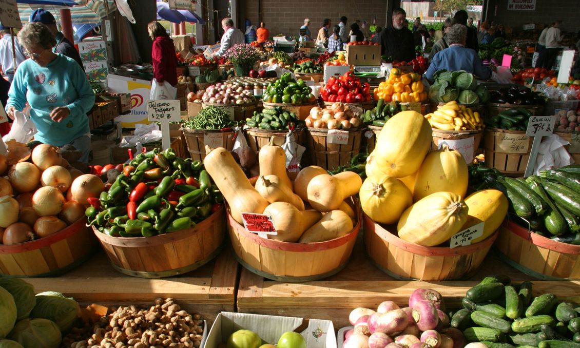
[[[205,169],[230,205],[234,220],[242,224],[242,212],[271,216],[277,234],[268,238],[284,242],[322,242],[350,233],[356,217],[345,200],[360,190],[360,176],[353,172],[331,176],[309,166],[292,182],[286,154],[273,140],[260,148],[255,186],[225,148],[215,148],[205,157]]]

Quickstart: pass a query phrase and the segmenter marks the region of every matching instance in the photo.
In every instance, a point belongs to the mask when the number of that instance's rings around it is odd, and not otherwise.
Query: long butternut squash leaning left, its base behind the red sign
[[[206,150],[209,148],[206,147]],[[230,151],[223,147],[211,150],[204,159],[204,165],[230,205],[231,216],[238,223],[243,223],[242,212],[261,214],[266,209],[268,201],[254,189]]]

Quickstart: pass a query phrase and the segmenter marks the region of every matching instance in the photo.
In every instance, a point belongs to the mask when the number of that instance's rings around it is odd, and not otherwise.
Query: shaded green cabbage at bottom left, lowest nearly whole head
[[[48,319],[23,319],[14,325],[8,338],[27,348],[59,348],[62,335]]]

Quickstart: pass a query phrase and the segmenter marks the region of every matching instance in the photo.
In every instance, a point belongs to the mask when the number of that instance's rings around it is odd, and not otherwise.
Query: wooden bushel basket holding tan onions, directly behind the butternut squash
[[[308,132],[306,148],[310,153],[313,165],[321,166],[324,169],[349,165],[350,159],[360,152],[361,129],[349,129],[349,140],[345,145],[328,143],[328,129],[309,127]]]

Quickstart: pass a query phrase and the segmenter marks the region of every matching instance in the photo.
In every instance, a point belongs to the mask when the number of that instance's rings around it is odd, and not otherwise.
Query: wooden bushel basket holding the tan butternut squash
[[[360,205],[356,205],[354,211],[356,224],[350,233],[317,243],[281,242],[259,237],[246,231],[228,212],[234,256],[252,273],[271,280],[305,282],[327,278],[346,266],[353,251],[361,226]]]

